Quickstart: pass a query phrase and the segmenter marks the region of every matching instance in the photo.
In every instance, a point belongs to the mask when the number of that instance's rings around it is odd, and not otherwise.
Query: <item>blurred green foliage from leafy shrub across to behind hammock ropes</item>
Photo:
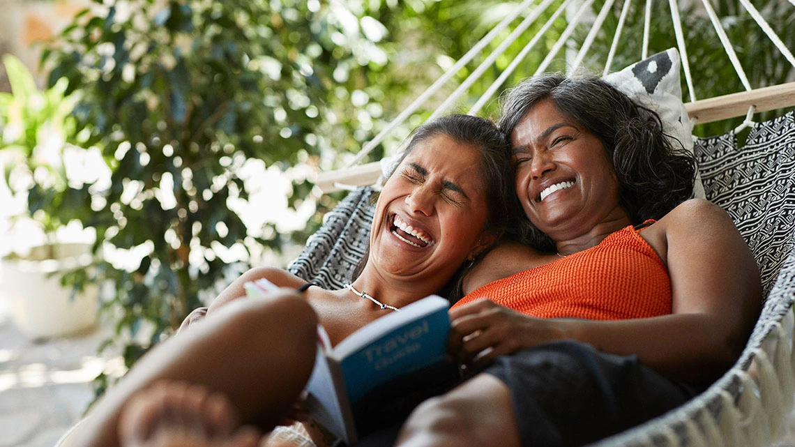
[[[553,7],[509,45],[456,105],[466,112],[522,47],[551,17]],[[640,59],[642,2],[631,11],[619,56],[619,69]],[[766,37],[737,2],[719,0],[718,14],[730,33],[754,87],[791,79],[792,71],[771,51]],[[795,48],[793,15],[786,2],[762,0],[763,13],[779,35]],[[602,1],[595,2],[599,8]],[[303,243],[339,196],[312,195],[300,177],[289,206],[307,200],[316,212],[304,230],[280,234],[274,224],[246,227],[230,207],[253,191],[242,175],[247,161],[262,160],[289,170],[294,165],[333,169],[349,160],[363,143],[452,66],[517,2],[462,0],[93,0],[42,58],[49,84],[66,79],[65,93],[80,102],[74,116],[111,166],[109,189],[84,196],[90,216],[80,220],[97,230],[103,245],[141,249],[140,264],[97,266],[99,278],[112,282],[105,310],[118,322],[117,336],[130,366],[168,335],[183,317],[234,278],[219,253],[250,256],[268,247],[278,251],[290,241]],[[601,72],[622,2],[609,17],[586,59]],[[675,46],[667,3],[656,2],[649,54]],[[791,7],[791,6],[790,6]],[[524,16],[529,12],[525,12]],[[506,80],[510,86],[535,72],[557,37],[566,14]],[[721,59],[712,25],[692,10],[682,15],[699,97],[740,91],[731,65]],[[370,155],[390,153],[475,70],[511,28],[456,73],[429,103],[399,126]],[[572,37],[579,47],[588,29]],[[714,33],[714,31],[712,31]],[[548,70],[565,69],[566,49]],[[761,68],[759,68],[761,66]],[[735,83],[735,84],[732,84]],[[683,80],[684,85],[684,80]],[[686,91],[686,90],[685,90]],[[496,115],[496,100],[481,115]],[[713,126],[724,131],[735,123]],[[145,328],[142,331],[141,328]],[[143,334],[143,335],[142,335]]]

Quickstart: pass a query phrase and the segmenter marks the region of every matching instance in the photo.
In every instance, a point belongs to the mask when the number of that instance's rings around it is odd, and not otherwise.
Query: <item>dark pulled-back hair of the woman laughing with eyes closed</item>
[[[397,167],[411,152],[417,144],[436,135],[447,135],[461,145],[473,146],[480,151],[480,176],[483,178],[483,186],[486,192],[486,203],[488,214],[484,229],[491,231],[498,237],[506,232],[514,234],[518,232],[511,229],[516,225],[520,215],[516,206],[516,193],[514,191],[514,164],[511,161],[510,142],[506,134],[498,130],[494,122],[487,119],[471,115],[447,115],[418,126],[409,134],[409,143],[401,157],[394,163],[392,170],[387,178],[394,174]],[[450,154],[455,157],[456,154]],[[466,223],[462,223],[466,224]],[[483,257],[488,250],[478,254],[478,258]],[[370,247],[351,273],[351,278],[358,278],[362,274],[367,258],[370,254]],[[477,262],[478,259],[475,259]],[[456,302],[461,297],[461,285],[463,278],[468,272],[471,263],[464,262],[456,271],[452,279],[438,293],[452,302]]]

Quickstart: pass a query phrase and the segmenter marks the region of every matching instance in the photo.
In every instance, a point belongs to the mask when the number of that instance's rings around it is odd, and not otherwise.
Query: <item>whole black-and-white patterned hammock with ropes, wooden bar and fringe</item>
[[[388,126],[373,141],[363,147],[350,165],[355,165],[382,141],[391,130],[417,111],[425,100],[446,83],[467,64],[477,52],[483,49],[503,29],[519,17],[525,10],[529,14],[522,24],[506,38],[494,52],[484,60],[483,65],[472,72],[449,98],[434,112],[434,117],[444,114],[467,91],[480,74],[483,66],[490,66],[508,45],[521,35],[554,0],[544,0],[533,7],[533,0],[525,0],[512,14],[501,21],[483,40],[425,91],[414,103]],[[795,6],[795,0],[789,0]],[[553,51],[541,63],[537,72],[543,72],[556,52],[568,41],[584,12],[591,7],[593,0],[585,0],[579,10],[570,18],[570,25],[564,31]],[[616,42],[619,41],[622,24],[631,0],[622,6],[618,29],[615,33],[611,51],[607,57],[604,74],[611,68],[615,56]],[[702,0],[715,32],[723,43],[727,57],[731,60],[745,92],[719,98],[696,100],[692,88],[692,77],[688,67],[687,51],[682,37],[678,6],[676,0],[669,0],[672,21],[677,34],[677,44],[681,54],[682,68],[691,102],[684,107],[697,122],[712,122],[737,116],[746,116],[743,124],[734,132],[712,138],[698,139],[694,153],[699,164],[699,173],[708,200],[725,209],[739,228],[743,238],[760,268],[765,302],[762,313],[754,327],[746,348],[735,366],[718,379],[712,387],[693,398],[684,406],[646,422],[634,429],[619,433],[599,441],[596,445],[654,445],[654,446],[762,446],[774,443],[786,433],[785,416],[793,408],[795,397],[795,112],[768,122],[754,123],[754,113],[781,107],[795,106],[795,83],[764,87],[753,90],[740,66],[726,34],[719,25],[708,0]],[[770,26],[762,19],[748,0],[740,0],[748,14],[766,31],[781,52],[781,57],[795,67],[795,57],[775,36]],[[553,13],[539,33],[522,50],[522,53],[494,82],[470,114],[477,114],[481,107],[502,86],[519,60],[533,48],[541,35],[549,29],[552,22],[563,14],[572,3],[565,0]],[[614,0],[607,0],[605,7],[591,23],[591,32],[569,65],[575,70],[584,60],[585,54],[598,32],[606,14],[611,10]],[[531,10],[532,7],[532,10]],[[793,8],[795,14],[795,8]],[[646,2],[646,27],[644,30],[642,59],[646,59],[649,41],[650,0]],[[678,67],[677,67],[678,72]],[[532,75],[533,73],[528,73]],[[678,84],[677,75],[677,84]],[[678,86],[677,86],[678,87]],[[736,133],[750,127],[745,145],[740,149]],[[689,135],[688,135],[689,137]],[[350,189],[352,192],[339,205],[328,212],[324,224],[309,239],[303,253],[289,266],[293,274],[312,281],[325,288],[341,288],[362,258],[373,217],[370,198],[378,189],[374,185],[382,172],[378,162],[369,165],[347,167],[338,172],[324,173],[316,181],[324,192]],[[366,185],[364,187],[360,187]],[[374,186],[370,186],[374,185]]]

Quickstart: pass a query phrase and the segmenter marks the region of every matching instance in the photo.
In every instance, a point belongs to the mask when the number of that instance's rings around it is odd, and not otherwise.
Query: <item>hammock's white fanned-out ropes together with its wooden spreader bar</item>
[[[413,113],[415,113],[423,103],[427,102],[428,99],[435,95],[438,91],[440,91],[441,87],[444,86],[449,80],[452,79],[453,76],[456,75],[457,72],[460,71],[466,64],[471,62],[474,59],[477,53],[482,51],[487,45],[489,45],[494,38],[497,37],[498,33],[500,33],[503,29],[506,29],[522,13],[529,8],[533,7],[533,4],[539,0],[525,0],[522,2],[521,5],[517,6],[514,10],[511,11],[509,15],[507,15],[502,21],[498,23],[498,25],[494,26],[494,29],[491,29],[489,33],[483,39],[481,39],[477,44],[475,44],[470,51],[468,51],[460,60],[456,62],[452,66],[452,68],[448,69],[448,71],[444,72],[436,82],[434,82],[428,89],[426,89],[417,99],[413,101],[404,111],[402,111],[397,117],[390,122],[381,132],[376,135],[370,142],[367,142],[362,150],[359,151],[351,160],[347,163],[345,168],[340,169],[338,171],[320,173],[316,177],[316,185],[320,188],[323,192],[332,192],[339,189],[353,189],[358,186],[362,185],[373,185],[378,179],[378,173],[380,173],[379,169],[377,168],[377,163],[370,163],[367,165],[362,166],[362,168],[366,169],[353,169],[351,166],[359,165],[359,163],[370,154],[375,147],[380,144],[386,135],[390,134],[397,126],[401,125],[401,123],[405,122],[406,119],[409,118]],[[534,7],[533,12],[530,14],[531,16],[540,17],[541,14],[545,10],[552,5],[554,0],[545,0],[541,3],[541,5]],[[781,54],[785,56],[787,60],[793,67],[795,67],[795,57],[792,56],[792,53],[785,47],[785,45],[781,42],[781,39],[776,36],[774,31],[770,29],[770,25],[762,18],[762,16],[758,13],[758,11],[748,2],[748,0],[740,0],[743,3],[745,9],[754,17],[754,21],[765,31],[765,33],[770,37],[771,41],[774,42],[776,47],[781,51]],[[556,14],[553,16],[555,19],[562,14],[567,6],[572,2],[572,0],[565,0],[563,5],[560,6],[560,9],[556,11]],[[585,10],[587,10],[591,6],[591,2],[593,0],[588,0],[588,2],[584,2],[584,5],[580,8],[577,12],[576,17],[573,18],[572,22],[569,24],[567,29],[564,31],[563,35],[561,35],[560,39],[556,41],[553,49],[549,51],[546,55],[545,60],[541,63],[541,66],[538,68],[535,74],[539,72],[543,72],[546,68],[549,67],[549,64],[552,62],[553,58],[556,56],[557,52],[565,45],[568,38],[573,33],[576,24],[581,20],[584,15]],[[613,5],[615,0],[607,0],[610,5]],[[762,87],[756,90],[748,91],[750,87],[750,83],[747,82],[747,76],[745,76],[743,72],[743,68],[741,64],[739,64],[739,60],[731,47],[731,42],[728,41],[726,37],[726,33],[723,31],[723,27],[719,25],[719,18],[715,16],[715,12],[712,6],[709,4],[708,0],[702,0],[704,2],[704,7],[710,16],[710,20],[712,21],[712,25],[715,28],[716,33],[718,33],[719,39],[723,44],[724,49],[727,51],[727,55],[731,60],[732,65],[735,67],[735,72],[737,72],[743,87],[746,89],[745,94],[735,93],[731,95],[723,95],[717,98],[705,99],[703,101],[696,101],[695,97],[695,89],[692,87],[692,76],[690,73],[690,66],[688,62],[688,55],[687,49],[684,46],[684,33],[682,33],[681,29],[681,20],[679,15],[679,10],[677,6],[676,0],[669,0],[669,6],[671,8],[671,17],[672,22],[674,25],[674,31],[677,37],[677,45],[679,52],[681,54],[681,61],[682,61],[682,68],[684,68],[684,76],[687,80],[688,91],[690,95],[691,102],[685,104],[685,107],[688,110],[688,114],[691,115],[692,118],[696,119],[697,122],[712,122],[718,121],[721,119],[732,118],[736,116],[742,116],[741,114],[746,114],[746,119],[743,121],[740,126],[735,129],[735,132],[739,132],[749,126],[754,126],[754,122],[751,120],[753,118],[754,113],[762,112],[762,111],[770,111],[781,107],[789,107],[795,103],[795,83],[789,84],[781,84],[778,86],[770,86],[770,87]],[[795,0],[790,0],[795,4]],[[590,33],[588,33],[588,38],[584,42],[584,45],[580,48],[580,51],[576,55],[576,64],[575,66],[580,66],[582,60],[584,60],[584,56],[588,51],[589,47],[591,46],[591,36],[595,36],[597,31],[603,25],[603,13],[611,8],[605,6],[605,8],[599,13],[599,17],[596,18],[595,24],[593,26],[594,29],[591,29]],[[618,42],[620,40],[620,35],[622,33],[623,26],[626,22],[626,17],[630,10],[630,0],[626,0],[622,7],[621,17],[619,18],[619,25],[617,26],[615,36],[611,45],[610,53],[607,56],[607,62],[605,64],[604,72],[607,74],[609,72],[611,64],[613,63],[615,57],[615,51],[618,47]],[[645,23],[644,23],[644,44],[643,44],[643,57],[648,57],[648,45],[649,45],[649,34],[650,34],[650,13],[651,13],[651,0],[646,0],[646,15],[645,15]],[[516,71],[519,64],[525,59],[525,57],[529,54],[531,49],[537,45],[541,38],[544,37],[545,33],[549,31],[553,22],[555,20],[548,21],[544,27],[533,36],[532,40],[529,42],[528,45],[525,45],[525,48],[522,49],[522,52],[511,61],[508,68],[504,70],[498,79],[491,84],[491,86],[487,89],[487,91],[481,96],[478,101],[475,103],[474,106],[471,107],[470,111],[468,112],[470,115],[477,115],[483,107],[487,105],[487,103],[497,94],[498,90],[503,87],[507,78]],[[525,25],[520,26],[527,26],[531,21],[522,22]],[[511,33],[511,40],[515,40],[517,37],[514,33]],[[499,49],[499,52],[502,53],[505,51],[504,46],[500,45],[502,48]],[[498,47],[499,48],[499,47]],[[494,60],[496,60],[496,56],[494,54],[491,57],[487,57],[484,60],[483,64],[479,65],[478,68],[475,69],[475,72],[472,73],[470,77],[467,77],[465,80],[465,86],[462,85],[458,89],[456,89],[455,95],[452,95],[448,98],[447,101],[444,102],[443,106],[440,107],[439,110],[433,113],[433,117],[441,115],[444,111],[447,111],[448,107],[450,107],[456,100],[459,100],[460,97],[464,94],[464,91],[467,90],[468,87],[471,87],[472,84],[475,83],[475,80],[478,79],[479,76],[483,74],[487,70],[488,64],[493,64]],[[475,75],[475,76],[473,76]],[[751,107],[753,106],[753,107]],[[742,109],[740,109],[742,107]],[[755,107],[755,108],[754,108]],[[399,153],[402,148],[397,148],[394,152]],[[349,170],[350,169],[350,170]],[[356,177],[359,175],[359,177]],[[366,177],[364,177],[366,176]]]

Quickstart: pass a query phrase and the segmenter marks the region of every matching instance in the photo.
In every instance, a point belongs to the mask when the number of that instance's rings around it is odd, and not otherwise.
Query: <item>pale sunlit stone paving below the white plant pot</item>
[[[52,447],[77,422],[93,391],[91,379],[118,370],[118,357],[98,357],[105,327],[59,340],[27,340],[0,301],[0,447]],[[778,447],[795,447],[795,413],[790,434]]]

